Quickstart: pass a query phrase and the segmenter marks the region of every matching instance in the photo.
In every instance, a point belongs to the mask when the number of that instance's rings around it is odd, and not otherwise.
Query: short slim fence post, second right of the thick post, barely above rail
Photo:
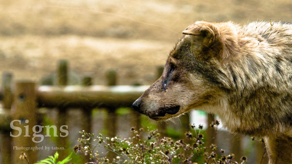
[[[83,86],[91,86],[92,85],[92,77],[84,76],[82,79]],[[92,133],[92,108],[85,107],[82,109],[82,130],[87,133]],[[83,146],[85,146],[83,144]],[[84,156],[84,163],[89,162],[89,156]]]

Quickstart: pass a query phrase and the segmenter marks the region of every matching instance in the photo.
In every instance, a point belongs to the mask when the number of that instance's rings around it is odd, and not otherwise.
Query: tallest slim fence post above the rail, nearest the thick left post
[[[66,86],[68,84],[68,62],[67,60],[59,60],[58,61],[58,72],[57,72],[57,84],[59,86]],[[58,116],[57,116],[57,128],[60,132],[60,127],[62,125],[67,125],[67,109],[66,108],[59,108],[58,109]],[[69,127],[68,127],[69,128]],[[65,134],[62,134],[65,135]],[[64,159],[68,156],[68,151],[66,150],[68,148],[68,136],[67,137],[58,137],[57,139],[57,147],[64,147],[64,150],[58,150],[59,158]]]

